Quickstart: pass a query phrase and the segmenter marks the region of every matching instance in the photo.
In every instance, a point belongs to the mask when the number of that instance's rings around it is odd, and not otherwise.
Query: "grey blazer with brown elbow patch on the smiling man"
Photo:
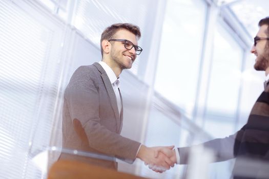
[[[106,154],[133,163],[140,143],[120,136],[122,117],[123,110],[118,113],[115,93],[101,65],[80,66],[65,91],[63,148]],[[117,169],[115,160],[98,160],[64,152],[61,159]]]

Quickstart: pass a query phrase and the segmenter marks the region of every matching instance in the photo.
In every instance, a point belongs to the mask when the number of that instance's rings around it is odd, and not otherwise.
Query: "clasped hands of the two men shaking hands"
[[[145,165],[155,172],[162,173],[174,167],[176,163],[176,153],[173,150],[174,146],[167,147],[147,147],[141,145],[137,158],[144,161]]]

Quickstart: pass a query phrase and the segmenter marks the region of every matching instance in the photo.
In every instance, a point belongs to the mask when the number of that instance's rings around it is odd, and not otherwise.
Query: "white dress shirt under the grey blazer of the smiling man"
[[[122,106],[121,106],[121,100],[120,100],[120,95],[119,95],[119,78],[116,77],[115,73],[110,68],[110,66],[107,65],[107,63],[105,63],[104,61],[99,61],[99,64],[106,71],[106,73],[108,75],[108,78],[109,78],[109,80],[111,82],[111,85],[113,87],[114,93],[116,95],[117,106],[118,106],[118,111],[119,111],[119,115],[120,115],[120,111],[121,111]]]

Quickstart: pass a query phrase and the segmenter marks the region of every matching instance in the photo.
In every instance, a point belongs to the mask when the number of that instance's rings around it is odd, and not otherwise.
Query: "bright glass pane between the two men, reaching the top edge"
[[[170,0],[164,17],[155,89],[188,114],[195,103],[206,7],[199,0]]]

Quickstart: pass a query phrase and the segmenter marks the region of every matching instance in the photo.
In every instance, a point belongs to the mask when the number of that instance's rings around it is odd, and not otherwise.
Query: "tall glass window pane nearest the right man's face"
[[[234,37],[217,24],[205,110],[205,130],[215,137],[231,135],[235,130],[242,58],[243,50]]]

